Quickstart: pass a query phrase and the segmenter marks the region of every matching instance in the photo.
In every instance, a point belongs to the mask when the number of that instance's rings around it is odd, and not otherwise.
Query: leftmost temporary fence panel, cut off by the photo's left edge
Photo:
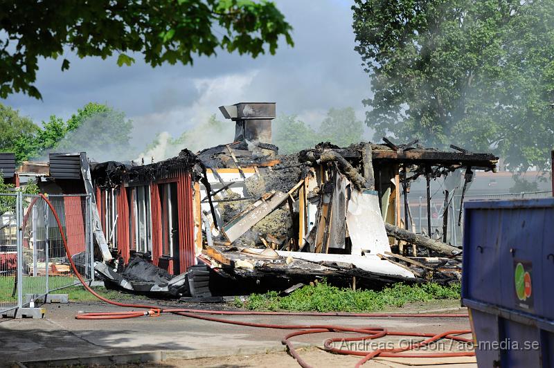
[[[0,313],[19,306],[17,270],[19,255],[19,194],[0,193]]]

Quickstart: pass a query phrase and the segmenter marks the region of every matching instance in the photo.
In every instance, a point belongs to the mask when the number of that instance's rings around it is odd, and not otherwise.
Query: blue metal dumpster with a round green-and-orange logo
[[[479,367],[554,367],[554,199],[464,207],[462,304]]]

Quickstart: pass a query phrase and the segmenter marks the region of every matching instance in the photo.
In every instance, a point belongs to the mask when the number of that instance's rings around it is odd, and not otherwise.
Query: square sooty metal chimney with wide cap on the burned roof
[[[271,120],[275,118],[275,102],[239,102],[220,106],[226,119],[235,122],[235,142],[271,143]]]

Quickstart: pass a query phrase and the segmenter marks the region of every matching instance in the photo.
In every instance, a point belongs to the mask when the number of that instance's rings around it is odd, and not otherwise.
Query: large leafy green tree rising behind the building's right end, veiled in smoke
[[[419,138],[547,167],[554,145],[554,2],[356,0],[375,138]]]

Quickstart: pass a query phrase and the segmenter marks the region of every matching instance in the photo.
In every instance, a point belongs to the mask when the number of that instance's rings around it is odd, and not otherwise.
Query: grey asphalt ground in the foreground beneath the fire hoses
[[[144,302],[144,301],[142,301]],[[217,304],[179,304],[179,308],[220,309],[229,307]],[[284,352],[281,339],[289,330],[262,329],[237,326],[165,314],[159,317],[133,318],[127,320],[75,320],[78,311],[121,311],[121,307],[103,303],[48,304],[46,317],[40,319],[0,319],[0,366],[14,362],[44,361],[51,359],[85,358],[95,356],[164,351],[167,362],[190,362],[196,367],[217,367],[209,357],[257,356],[278,354],[286,366],[295,365],[293,358]],[[418,310],[429,310],[424,304]],[[406,312],[411,311],[409,308]],[[463,313],[465,310],[451,311]],[[401,311],[399,311],[401,312]],[[224,316],[240,320],[271,324],[339,324],[341,326],[382,326],[395,331],[440,333],[453,329],[470,329],[467,318],[352,318],[352,317],[306,317],[290,315],[242,315]],[[325,339],[341,336],[337,333],[319,333],[294,338],[298,347],[323,345]],[[346,334],[342,334],[346,337]],[[397,337],[386,337],[379,342],[400,343]],[[370,347],[368,347],[369,349]],[[361,347],[364,349],[364,347]],[[464,347],[438,346],[441,351],[459,351]],[[267,354],[271,353],[271,354]],[[307,356],[315,354],[324,361],[339,359],[339,362],[357,361],[354,357],[333,356],[329,353],[307,349]],[[206,360],[202,363],[202,358]],[[194,360],[195,363],[193,364]],[[217,363],[216,360],[215,362]],[[256,362],[256,360],[253,360]],[[472,362],[474,360],[469,360]],[[155,363],[154,363],[155,364]],[[165,364],[165,363],[164,363]],[[249,366],[237,363],[240,366]],[[336,363],[335,367],[336,367]],[[153,365],[155,366],[155,365]],[[229,367],[229,365],[226,365]],[[285,366],[285,365],[283,365]],[[317,366],[317,365],[316,365]],[[342,366],[342,365],[339,365]],[[371,366],[371,365],[368,365]],[[382,365],[379,365],[382,366]],[[464,364],[464,366],[468,366]],[[222,365],[223,367],[223,365]],[[469,367],[469,366],[468,366]]]

